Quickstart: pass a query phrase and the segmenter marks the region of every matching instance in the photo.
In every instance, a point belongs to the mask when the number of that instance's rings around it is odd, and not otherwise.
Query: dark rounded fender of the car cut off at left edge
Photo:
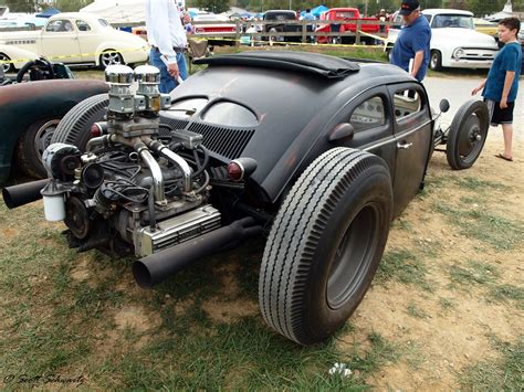
[[[78,102],[106,93],[101,81],[54,80],[0,87],[0,183],[9,177],[22,133],[43,118],[61,118]]]

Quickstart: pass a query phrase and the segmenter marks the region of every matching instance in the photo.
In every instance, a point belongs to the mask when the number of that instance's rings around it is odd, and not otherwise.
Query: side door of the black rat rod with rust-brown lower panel
[[[390,85],[389,92],[396,146],[395,215],[398,215],[421,189],[433,134],[429,103],[422,86],[402,83]]]

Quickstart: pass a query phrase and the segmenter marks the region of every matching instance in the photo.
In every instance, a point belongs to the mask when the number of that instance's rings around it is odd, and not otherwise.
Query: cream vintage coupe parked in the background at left
[[[102,68],[112,64],[144,63],[149,55],[144,40],[113,29],[94,14],[82,12],[55,14],[41,31],[2,32],[0,42],[69,65]],[[12,55],[4,53],[8,60],[15,60]]]

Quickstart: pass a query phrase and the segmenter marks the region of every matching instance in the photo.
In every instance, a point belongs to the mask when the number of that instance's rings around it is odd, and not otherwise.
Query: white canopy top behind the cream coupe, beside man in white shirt
[[[91,12],[109,23],[133,23],[146,20],[145,0],[95,0],[80,12]]]

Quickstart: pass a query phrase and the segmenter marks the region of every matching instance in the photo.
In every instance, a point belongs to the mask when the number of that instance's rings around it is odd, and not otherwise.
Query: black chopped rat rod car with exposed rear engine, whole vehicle
[[[156,68],[108,67],[109,94],[54,133],[49,179],[7,188],[4,200],[42,193],[71,246],[137,255],[143,287],[270,227],[263,318],[298,343],[321,341],[363,299],[434,147],[447,142],[454,169],[479,157],[486,107],[465,103],[441,130],[423,85],[392,65],[298,52],[205,62],[170,97]]]

